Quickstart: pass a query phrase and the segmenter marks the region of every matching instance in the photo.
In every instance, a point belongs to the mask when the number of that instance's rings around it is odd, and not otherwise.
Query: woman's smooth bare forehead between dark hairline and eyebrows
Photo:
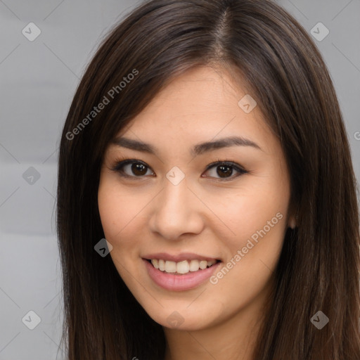
[[[264,148],[271,146],[274,135],[259,108],[244,111],[241,99],[246,102],[247,96],[226,71],[193,68],[174,78],[117,137],[184,148],[224,136],[243,136],[263,143]]]

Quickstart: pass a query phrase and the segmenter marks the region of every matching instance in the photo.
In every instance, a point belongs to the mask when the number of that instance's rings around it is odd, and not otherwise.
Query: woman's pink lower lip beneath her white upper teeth
[[[172,291],[184,291],[196,288],[210,278],[221,264],[221,262],[218,262],[207,269],[190,271],[184,275],[174,275],[155,269],[146,259],[143,259],[143,262],[145,262],[146,269],[153,282],[166,290]]]

